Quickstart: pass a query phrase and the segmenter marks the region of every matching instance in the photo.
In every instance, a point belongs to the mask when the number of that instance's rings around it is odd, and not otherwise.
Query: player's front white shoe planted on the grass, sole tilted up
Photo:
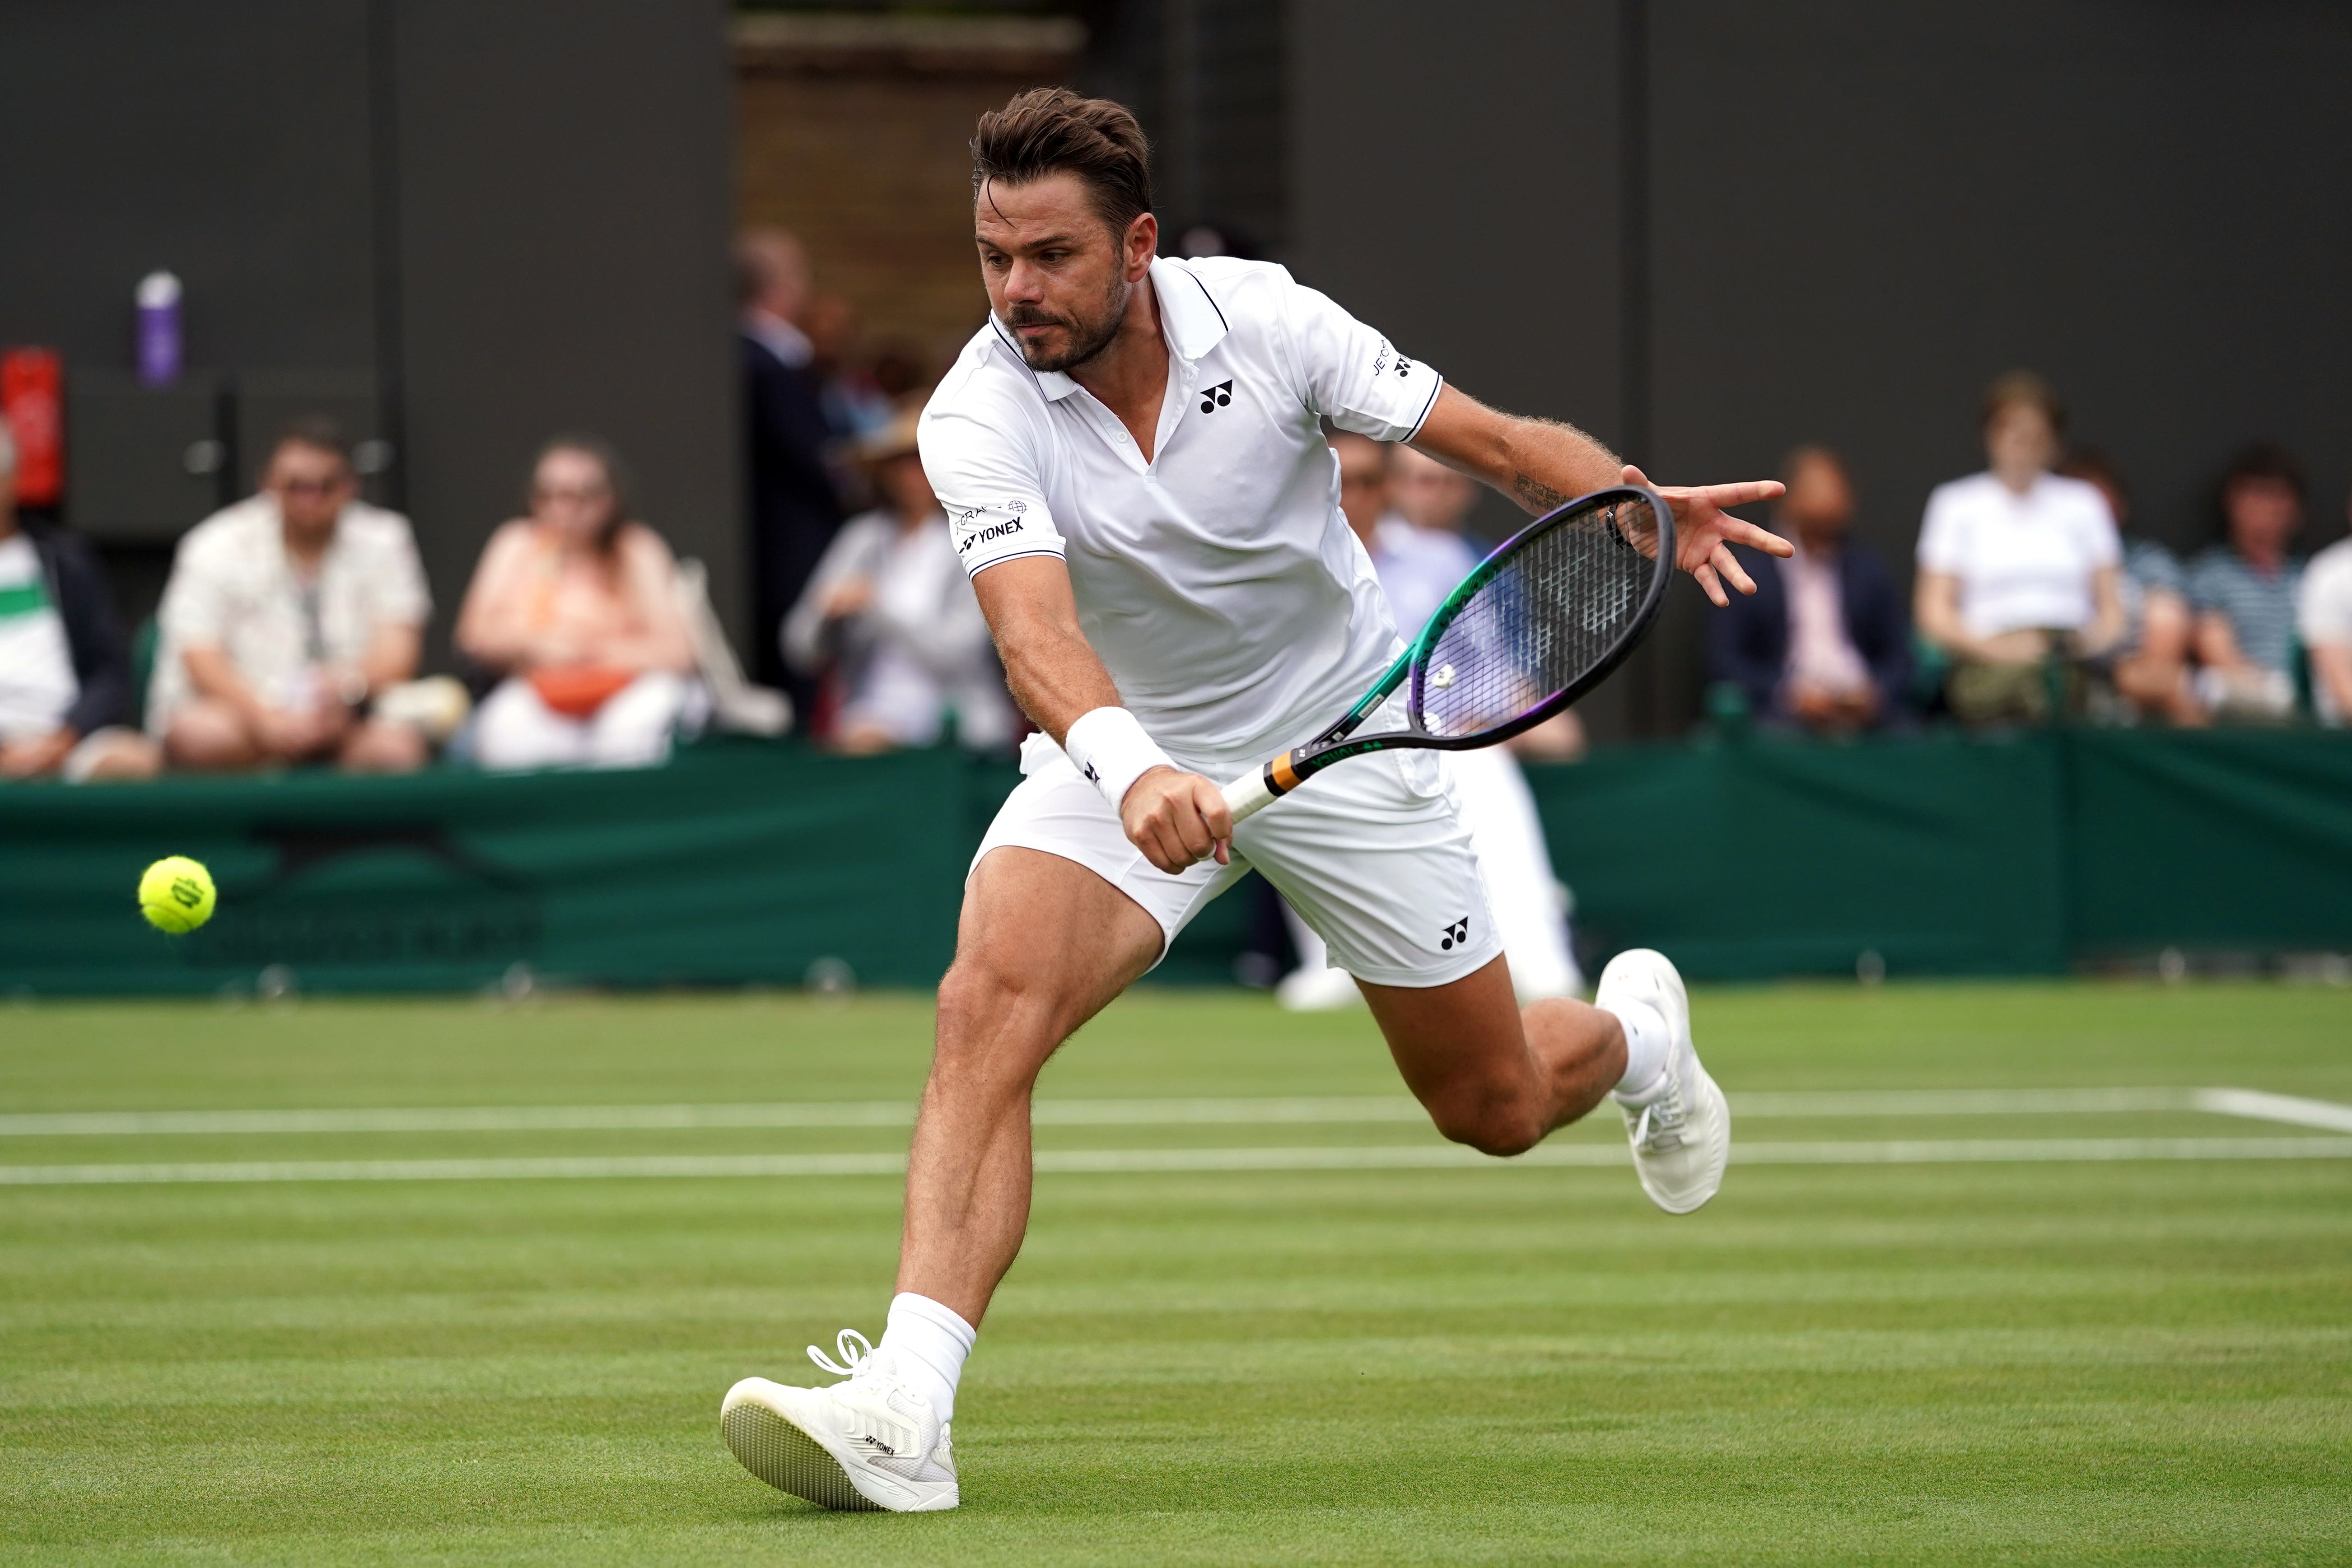
[[[856,1328],[844,1328],[833,1347],[842,1363],[814,1345],[809,1361],[844,1382],[795,1389],[746,1378],[727,1389],[720,1432],[743,1469],[828,1509],[953,1509],[955,1455],[931,1401]]]

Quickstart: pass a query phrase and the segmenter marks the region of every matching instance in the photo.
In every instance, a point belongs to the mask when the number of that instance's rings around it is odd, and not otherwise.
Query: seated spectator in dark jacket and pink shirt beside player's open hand
[[[1853,482],[1828,447],[1780,463],[1778,531],[1797,555],[1738,550],[1752,595],[1708,618],[1712,679],[1733,682],[1750,712],[1820,731],[1877,729],[1910,684],[1910,623],[1877,550],[1849,538]]]

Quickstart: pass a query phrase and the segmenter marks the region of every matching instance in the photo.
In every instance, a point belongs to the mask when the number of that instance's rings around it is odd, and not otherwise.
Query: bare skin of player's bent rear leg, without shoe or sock
[[[1524,1154],[1625,1077],[1611,1013],[1571,999],[1522,1009],[1503,959],[1446,985],[1362,990],[1430,1121],[1484,1154]]]

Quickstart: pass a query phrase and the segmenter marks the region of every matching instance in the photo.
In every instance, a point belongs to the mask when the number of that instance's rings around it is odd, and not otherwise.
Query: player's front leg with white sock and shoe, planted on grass
[[[1030,1088],[1056,1046],[1160,957],[1160,924],[1091,870],[995,849],[971,872],[906,1178],[898,1298],[882,1345],[835,1340],[844,1378],[746,1378],[727,1446],[769,1486],[833,1509],[953,1509],[955,1382],[1030,1206]]]

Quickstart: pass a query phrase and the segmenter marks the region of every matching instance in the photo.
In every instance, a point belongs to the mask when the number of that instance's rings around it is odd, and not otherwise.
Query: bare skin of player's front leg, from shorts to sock
[[[971,872],[906,1173],[898,1288],[988,1312],[1030,1206],[1030,1088],[1160,957],[1160,922],[1087,867],[995,849]]]

